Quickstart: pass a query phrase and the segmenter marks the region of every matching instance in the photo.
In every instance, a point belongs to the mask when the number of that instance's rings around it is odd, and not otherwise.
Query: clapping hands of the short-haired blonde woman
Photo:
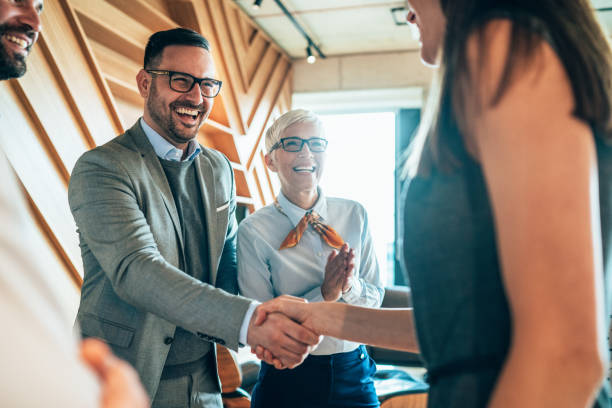
[[[321,294],[326,302],[335,302],[340,299],[343,292],[351,288],[353,277],[353,260],[355,252],[348,244],[342,245],[339,252],[332,251],[327,258],[325,265],[325,278],[321,285]]]

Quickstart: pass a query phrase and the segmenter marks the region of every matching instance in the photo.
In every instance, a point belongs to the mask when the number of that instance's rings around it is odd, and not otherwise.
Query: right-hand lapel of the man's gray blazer
[[[217,271],[214,268],[216,252],[214,251],[214,243],[216,242],[217,233],[217,213],[215,203],[215,182],[213,176],[213,168],[210,159],[205,153],[198,154],[196,160],[196,172],[200,183],[200,193],[202,194],[202,202],[206,211],[206,232],[208,234],[208,251],[209,251],[209,267],[210,267],[210,282],[214,283],[217,279]]]

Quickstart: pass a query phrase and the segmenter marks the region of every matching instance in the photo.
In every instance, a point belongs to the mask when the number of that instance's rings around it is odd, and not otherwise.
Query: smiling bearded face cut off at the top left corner
[[[0,0],[0,80],[26,72],[26,57],[40,32],[42,0]]]

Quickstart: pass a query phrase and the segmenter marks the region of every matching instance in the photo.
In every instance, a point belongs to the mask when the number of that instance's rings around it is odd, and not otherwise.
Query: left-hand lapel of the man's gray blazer
[[[147,139],[147,136],[140,127],[140,120],[136,122],[136,124],[134,124],[134,126],[132,126],[127,133],[130,135],[136,150],[140,152],[140,156],[145,162],[147,170],[149,170],[149,174],[153,179],[153,184],[155,184],[160,195],[162,196],[166,210],[172,219],[172,224],[174,225],[181,248],[184,248],[185,244],[183,242],[183,232],[181,230],[181,223],[179,220],[178,211],[176,210],[176,204],[174,203],[174,196],[172,195],[172,190],[170,190],[170,184],[168,184],[166,173],[164,173],[164,169],[162,168],[162,165],[155,154],[155,150],[153,150],[153,146],[151,146],[149,139]]]

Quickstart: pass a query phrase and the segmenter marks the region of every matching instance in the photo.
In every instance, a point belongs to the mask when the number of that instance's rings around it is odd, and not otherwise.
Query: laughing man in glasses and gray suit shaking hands
[[[319,340],[280,314],[255,326],[257,303],[231,294],[232,167],[196,141],[214,78],[204,37],[153,34],[136,77],[143,117],[85,153],[70,180],[85,268],[77,321],[134,365],[153,407],[221,406],[215,343],[261,345],[295,366]]]

